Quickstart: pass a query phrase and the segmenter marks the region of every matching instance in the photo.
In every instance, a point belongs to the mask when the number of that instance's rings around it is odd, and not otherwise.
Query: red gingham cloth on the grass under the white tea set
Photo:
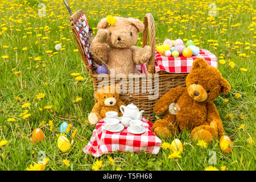
[[[146,132],[143,134],[128,133],[125,127],[121,132],[113,133],[102,129],[105,126],[104,119],[101,119],[93,130],[93,135],[90,138],[87,146],[82,148],[85,154],[91,154],[94,157],[100,157],[106,153],[114,151],[130,151],[130,152],[149,152],[158,154],[162,141],[152,133],[152,123],[145,118],[142,118],[143,126],[146,127]]]

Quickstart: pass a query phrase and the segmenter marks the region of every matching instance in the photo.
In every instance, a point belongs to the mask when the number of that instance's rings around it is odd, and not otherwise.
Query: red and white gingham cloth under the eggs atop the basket
[[[155,51],[155,72],[166,71],[169,73],[189,73],[191,72],[193,60],[203,58],[207,63],[215,68],[218,67],[217,57],[206,49],[199,49],[200,53],[192,57],[166,57]]]

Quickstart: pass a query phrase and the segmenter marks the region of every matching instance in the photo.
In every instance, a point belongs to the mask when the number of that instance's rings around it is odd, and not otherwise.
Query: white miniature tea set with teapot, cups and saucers
[[[141,121],[144,110],[139,111],[138,107],[133,103],[127,106],[120,106],[120,110],[123,114],[122,117],[118,117],[118,113],[115,111],[106,112],[104,129],[115,133],[127,127],[128,132],[132,134],[142,134],[146,131]]]

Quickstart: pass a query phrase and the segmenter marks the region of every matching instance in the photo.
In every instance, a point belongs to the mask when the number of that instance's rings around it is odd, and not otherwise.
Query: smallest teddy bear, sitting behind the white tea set
[[[102,118],[105,118],[105,113],[108,111],[116,111],[119,117],[122,116],[119,108],[121,105],[126,105],[119,100],[119,94],[114,86],[104,86],[98,89],[95,97],[97,103],[93,106],[92,112],[88,116],[91,125],[94,126]]]

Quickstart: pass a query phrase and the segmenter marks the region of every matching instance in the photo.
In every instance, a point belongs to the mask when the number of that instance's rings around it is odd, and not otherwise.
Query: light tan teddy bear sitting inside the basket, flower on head
[[[112,16],[114,23],[109,24],[109,17],[103,18],[97,25],[97,35],[92,41],[93,60],[102,65],[100,58],[109,69],[118,73],[138,73],[135,65],[147,63],[151,56],[151,47],[136,47],[139,32],[144,24],[139,19]],[[110,70],[109,70],[110,73]]]

